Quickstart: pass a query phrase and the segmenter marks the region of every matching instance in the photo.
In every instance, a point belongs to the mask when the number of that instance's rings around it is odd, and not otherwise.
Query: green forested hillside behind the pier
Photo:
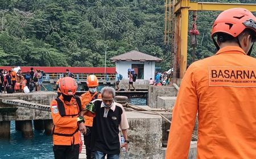
[[[197,14],[196,59],[215,52],[210,30],[218,13]],[[166,70],[171,49],[163,32],[164,0],[0,0],[0,65],[104,66],[108,46],[107,59],[135,49],[162,58]]]

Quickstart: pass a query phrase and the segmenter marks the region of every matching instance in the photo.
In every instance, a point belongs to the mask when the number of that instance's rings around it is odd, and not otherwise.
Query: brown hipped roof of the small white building
[[[161,58],[154,57],[151,55],[147,55],[146,53],[138,52],[138,51],[130,51],[123,53],[122,55],[114,56],[110,58],[113,62],[115,61],[162,61]]]

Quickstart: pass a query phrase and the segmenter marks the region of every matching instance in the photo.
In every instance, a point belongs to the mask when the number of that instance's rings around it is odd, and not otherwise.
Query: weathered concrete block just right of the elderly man
[[[126,158],[163,158],[162,118],[159,115],[127,111],[129,153]],[[121,154],[121,158],[125,153]]]

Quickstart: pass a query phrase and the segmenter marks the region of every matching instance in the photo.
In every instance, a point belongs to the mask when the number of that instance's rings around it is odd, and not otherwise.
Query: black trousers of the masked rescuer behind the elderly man
[[[84,144],[86,149],[86,159],[94,159],[91,149],[92,127],[86,127],[86,135],[84,135]]]

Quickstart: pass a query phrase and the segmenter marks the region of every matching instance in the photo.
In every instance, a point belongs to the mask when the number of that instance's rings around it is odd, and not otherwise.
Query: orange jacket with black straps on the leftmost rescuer
[[[65,108],[65,114],[67,116],[61,116],[58,109],[57,101],[54,99],[51,102],[51,114],[53,124],[55,125],[54,133],[67,134],[72,136],[60,136],[53,133],[53,145],[72,145],[79,144],[79,125],[77,124],[77,117],[79,114],[79,106],[77,105],[76,99],[72,98],[70,102],[63,101],[62,95],[59,97],[60,101],[63,102]],[[80,98],[81,100],[81,98]],[[83,109],[84,107],[81,106]],[[73,116],[70,116],[73,115]]]

